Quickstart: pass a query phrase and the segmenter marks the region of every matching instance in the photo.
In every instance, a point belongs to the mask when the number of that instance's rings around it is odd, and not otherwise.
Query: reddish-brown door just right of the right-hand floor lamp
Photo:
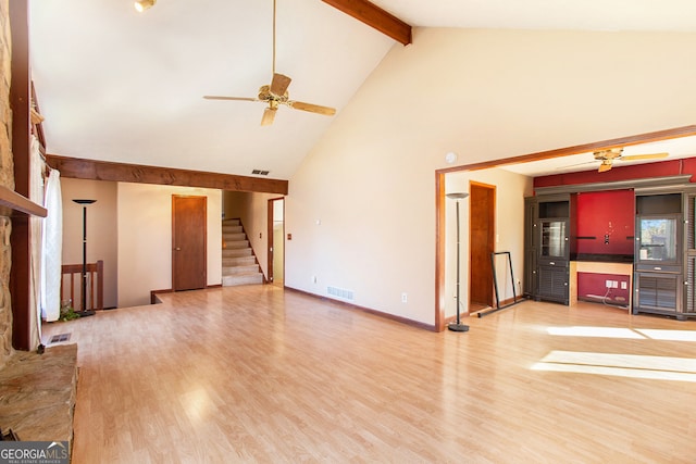
[[[490,253],[495,251],[496,187],[470,181],[469,312],[493,306]]]

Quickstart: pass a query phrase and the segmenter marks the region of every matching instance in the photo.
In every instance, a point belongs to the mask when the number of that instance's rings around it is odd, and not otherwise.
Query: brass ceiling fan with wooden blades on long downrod
[[[275,112],[281,104],[285,104],[286,106],[293,108],[295,110],[309,111],[311,113],[333,116],[334,114],[336,114],[336,110],[333,108],[290,100],[288,97],[287,88],[293,79],[290,79],[288,76],[275,72],[275,2],[276,0],[273,0],[273,78],[271,80],[271,84],[261,86],[259,88],[259,95],[257,97],[203,96],[203,98],[208,100],[262,101],[264,103],[268,103],[268,106],[263,111],[263,116],[261,117],[262,126],[273,124]]]

